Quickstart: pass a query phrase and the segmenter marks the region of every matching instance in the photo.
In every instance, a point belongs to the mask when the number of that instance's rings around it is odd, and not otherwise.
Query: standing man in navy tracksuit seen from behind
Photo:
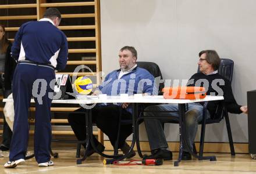
[[[57,27],[61,13],[56,8],[45,11],[39,21],[24,23],[16,34],[12,57],[18,61],[12,81],[15,107],[9,161],[5,168],[15,168],[25,160],[29,139],[28,110],[35,99],[34,154],[38,166],[51,166],[51,102],[55,70],[67,62],[67,39]],[[51,83],[51,87],[50,87]]]

